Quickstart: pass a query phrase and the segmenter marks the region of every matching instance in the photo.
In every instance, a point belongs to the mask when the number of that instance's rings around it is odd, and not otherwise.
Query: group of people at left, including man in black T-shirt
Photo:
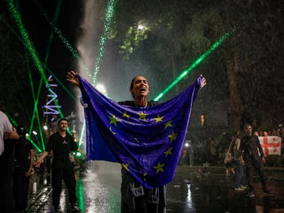
[[[34,149],[32,143],[26,139],[27,128],[18,125],[16,129],[10,123],[5,113],[0,111],[0,212],[25,212],[29,191],[29,177],[33,167],[40,168],[41,162],[52,153],[51,164],[53,188],[53,205],[55,212],[60,209],[60,193],[62,180],[69,193],[69,202],[73,212],[82,212],[77,205],[75,196],[75,175],[70,160],[72,151],[82,151],[67,133],[68,121],[61,118],[58,121],[58,131],[49,137],[45,151],[34,165]],[[83,153],[84,154],[84,153]]]

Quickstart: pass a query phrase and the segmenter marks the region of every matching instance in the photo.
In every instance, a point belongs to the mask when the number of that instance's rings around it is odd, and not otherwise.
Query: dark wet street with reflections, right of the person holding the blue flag
[[[168,186],[168,212],[284,212],[284,182],[270,180],[268,186],[275,197],[262,192],[255,180],[255,197],[246,197],[246,190],[234,190],[235,179],[224,174],[179,171]]]

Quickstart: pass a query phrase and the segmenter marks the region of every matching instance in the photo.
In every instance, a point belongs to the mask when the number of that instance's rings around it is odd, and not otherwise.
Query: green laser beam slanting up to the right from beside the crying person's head
[[[169,86],[167,88],[165,88],[165,90],[163,90],[163,92],[161,92],[155,99],[154,101],[158,101],[159,99],[161,99],[161,97],[163,97],[167,92],[169,92],[169,90],[171,88],[173,88],[176,84],[178,84],[178,82],[180,82],[187,74],[189,74],[193,68],[196,68],[196,66],[198,66],[198,64],[200,64],[206,57],[207,55],[209,55],[213,50],[215,50],[217,47],[219,47],[231,34],[233,34],[233,32],[235,32],[235,29],[237,28],[237,25],[235,25],[233,27],[232,32],[230,33],[225,33],[219,40],[217,40],[211,47],[209,50],[207,50],[205,53],[203,53],[202,55],[200,55],[200,57],[195,60],[193,62],[193,64],[191,64],[191,66],[189,66],[189,68],[187,68],[185,71],[183,71],[175,80],[174,82],[172,82],[171,84],[169,84]]]

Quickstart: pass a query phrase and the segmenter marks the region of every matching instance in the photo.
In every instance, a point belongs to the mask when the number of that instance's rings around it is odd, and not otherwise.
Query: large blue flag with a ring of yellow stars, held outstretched
[[[150,108],[119,105],[80,76],[86,119],[87,160],[119,162],[147,188],[176,173],[201,77],[180,95]]]

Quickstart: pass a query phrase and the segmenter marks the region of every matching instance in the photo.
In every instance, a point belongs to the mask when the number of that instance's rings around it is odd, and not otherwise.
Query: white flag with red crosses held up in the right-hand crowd
[[[259,136],[264,155],[281,155],[281,137]]]

